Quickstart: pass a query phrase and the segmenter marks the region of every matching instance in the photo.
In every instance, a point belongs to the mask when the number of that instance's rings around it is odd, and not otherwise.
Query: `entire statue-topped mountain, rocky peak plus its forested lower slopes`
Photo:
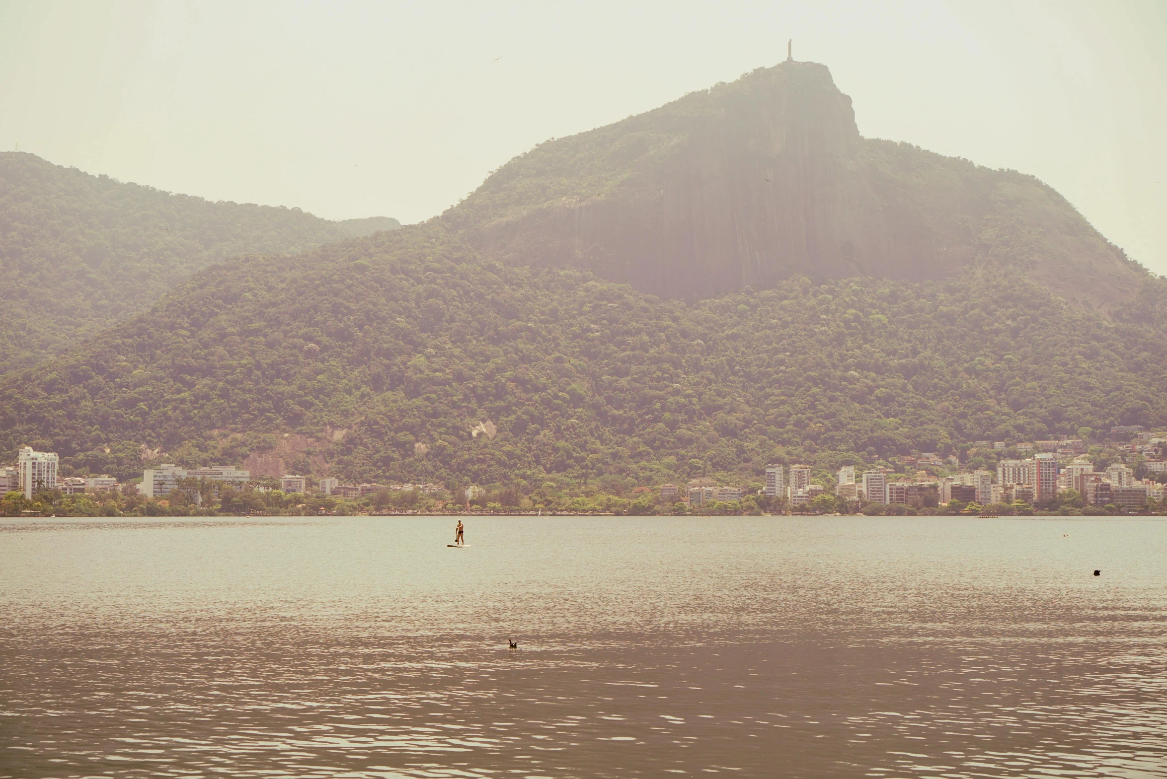
[[[0,435],[124,476],[161,449],[750,478],[1167,422],[1163,301],[1041,182],[861,139],[784,63],[540,145],[429,223],[197,273],[6,377]]]

